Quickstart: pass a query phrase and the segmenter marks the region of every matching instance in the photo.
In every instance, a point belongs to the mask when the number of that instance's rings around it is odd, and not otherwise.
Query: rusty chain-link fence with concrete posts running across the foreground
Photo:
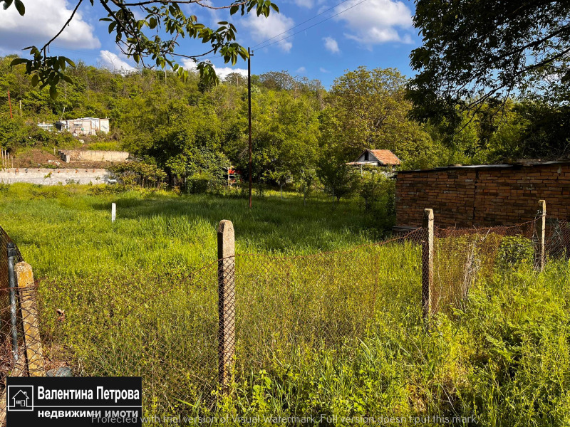
[[[401,236],[286,257],[235,253],[233,225],[222,221],[216,261],[162,292],[142,285],[142,293],[106,285],[85,292],[86,326],[70,317],[50,339],[73,349],[76,374],[142,376],[148,413],[207,414],[252,373],[301,366],[323,353],[350,357],[388,321],[429,324],[439,312],[452,316],[475,288],[484,290],[500,275],[519,268],[538,274],[570,255],[570,224],[546,216],[544,203],[536,218],[517,226],[435,223],[427,209],[424,226]],[[9,311],[3,311],[4,375],[14,367]],[[19,354],[29,347],[23,320]]]

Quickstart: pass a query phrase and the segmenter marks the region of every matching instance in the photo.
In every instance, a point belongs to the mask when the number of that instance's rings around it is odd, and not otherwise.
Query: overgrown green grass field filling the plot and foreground
[[[101,191],[6,187],[0,225],[40,279],[48,356],[78,375],[142,376],[147,416],[570,423],[565,260],[537,274],[511,241],[467,303],[427,331],[417,239],[371,246],[390,221],[350,201],[270,194],[249,211],[232,197]],[[222,218],[242,255],[235,382],[214,407]]]

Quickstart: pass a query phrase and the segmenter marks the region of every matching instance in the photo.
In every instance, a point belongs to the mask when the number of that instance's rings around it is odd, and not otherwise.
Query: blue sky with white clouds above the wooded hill
[[[221,0],[208,0],[212,6],[225,6]],[[321,80],[325,87],[334,78],[359,65],[368,68],[398,68],[404,75],[410,70],[410,51],[420,46],[418,31],[412,26],[413,1],[409,0],[273,0],[280,13],[269,18],[229,16],[227,9],[212,10],[195,4],[182,5],[188,15],[217,28],[217,22],[230,21],[237,27],[237,41],[254,50],[252,73],[286,70],[291,75]],[[21,48],[43,46],[63,26],[76,1],[24,0],[26,14],[19,16],[14,6],[0,10],[0,55],[19,53]],[[88,64],[113,70],[132,70],[135,62],[120,53],[114,37],[108,33],[106,16],[95,1],[83,1],[71,24],[51,48],[52,55],[63,55]],[[306,22],[305,22],[306,21]],[[177,51],[204,53],[203,45],[182,40]],[[241,59],[232,69],[221,58],[208,56],[218,75],[237,71],[247,75],[247,63]],[[188,68],[194,65],[186,60]]]

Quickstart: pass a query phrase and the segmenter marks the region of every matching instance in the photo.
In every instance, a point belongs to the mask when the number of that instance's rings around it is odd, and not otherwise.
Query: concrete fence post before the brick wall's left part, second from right
[[[425,235],[422,243],[422,305],[423,317],[437,313],[437,295],[433,283],[433,210],[425,209],[423,224]]]

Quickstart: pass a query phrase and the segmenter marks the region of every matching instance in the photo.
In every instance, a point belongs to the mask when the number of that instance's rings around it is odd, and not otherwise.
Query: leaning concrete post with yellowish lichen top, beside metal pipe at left
[[[36,306],[36,290],[33,288],[33,271],[28,263],[17,263],[14,268],[18,286],[22,324],[24,325],[24,342],[28,372],[30,376],[46,376],[43,367],[43,349]]]

